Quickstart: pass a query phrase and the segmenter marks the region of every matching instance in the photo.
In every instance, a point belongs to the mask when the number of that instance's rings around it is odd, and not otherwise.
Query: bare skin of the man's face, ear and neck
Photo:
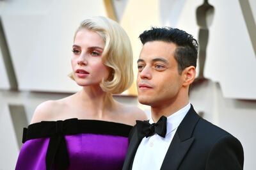
[[[138,59],[138,100],[151,106],[151,116],[157,122],[189,103],[189,85],[195,80],[195,66],[188,66],[179,74],[174,58],[175,43],[152,41],[141,49]]]

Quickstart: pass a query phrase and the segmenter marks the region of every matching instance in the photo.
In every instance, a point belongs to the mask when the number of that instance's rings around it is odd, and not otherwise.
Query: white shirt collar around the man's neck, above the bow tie
[[[170,132],[172,132],[177,127],[179,127],[181,121],[184,119],[184,117],[188,113],[190,107],[191,107],[191,104],[188,103],[185,107],[182,107],[181,109],[179,109],[179,111],[174,112],[172,115],[167,117],[166,135],[168,135]],[[149,123],[150,124],[154,123],[151,116],[149,119]]]

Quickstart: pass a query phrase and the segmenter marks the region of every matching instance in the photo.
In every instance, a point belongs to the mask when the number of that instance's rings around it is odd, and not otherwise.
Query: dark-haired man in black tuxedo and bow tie
[[[189,103],[198,43],[185,31],[152,28],[140,35],[138,100],[151,118],[132,128],[123,170],[243,169],[236,137],[200,118]]]

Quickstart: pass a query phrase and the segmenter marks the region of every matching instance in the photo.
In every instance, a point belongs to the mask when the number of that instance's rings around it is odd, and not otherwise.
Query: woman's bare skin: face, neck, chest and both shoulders
[[[109,76],[109,68],[102,63],[104,40],[95,32],[81,29],[72,47],[71,59],[74,80],[82,87],[74,95],[60,100],[49,100],[36,107],[31,123],[40,121],[102,120],[135,125],[136,120],[147,120],[145,112],[116,102],[112,94],[102,91],[100,82]],[[77,69],[86,71],[80,73]]]

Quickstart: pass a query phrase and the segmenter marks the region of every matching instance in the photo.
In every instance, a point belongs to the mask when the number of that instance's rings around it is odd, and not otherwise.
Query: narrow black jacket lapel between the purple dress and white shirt
[[[131,141],[129,143],[128,151],[126,153],[124,166],[123,166],[122,170],[132,169],[134,156],[136,154],[138,146],[140,145],[140,142],[141,142],[141,140],[138,139],[137,128],[134,127],[134,132],[131,135]]]

